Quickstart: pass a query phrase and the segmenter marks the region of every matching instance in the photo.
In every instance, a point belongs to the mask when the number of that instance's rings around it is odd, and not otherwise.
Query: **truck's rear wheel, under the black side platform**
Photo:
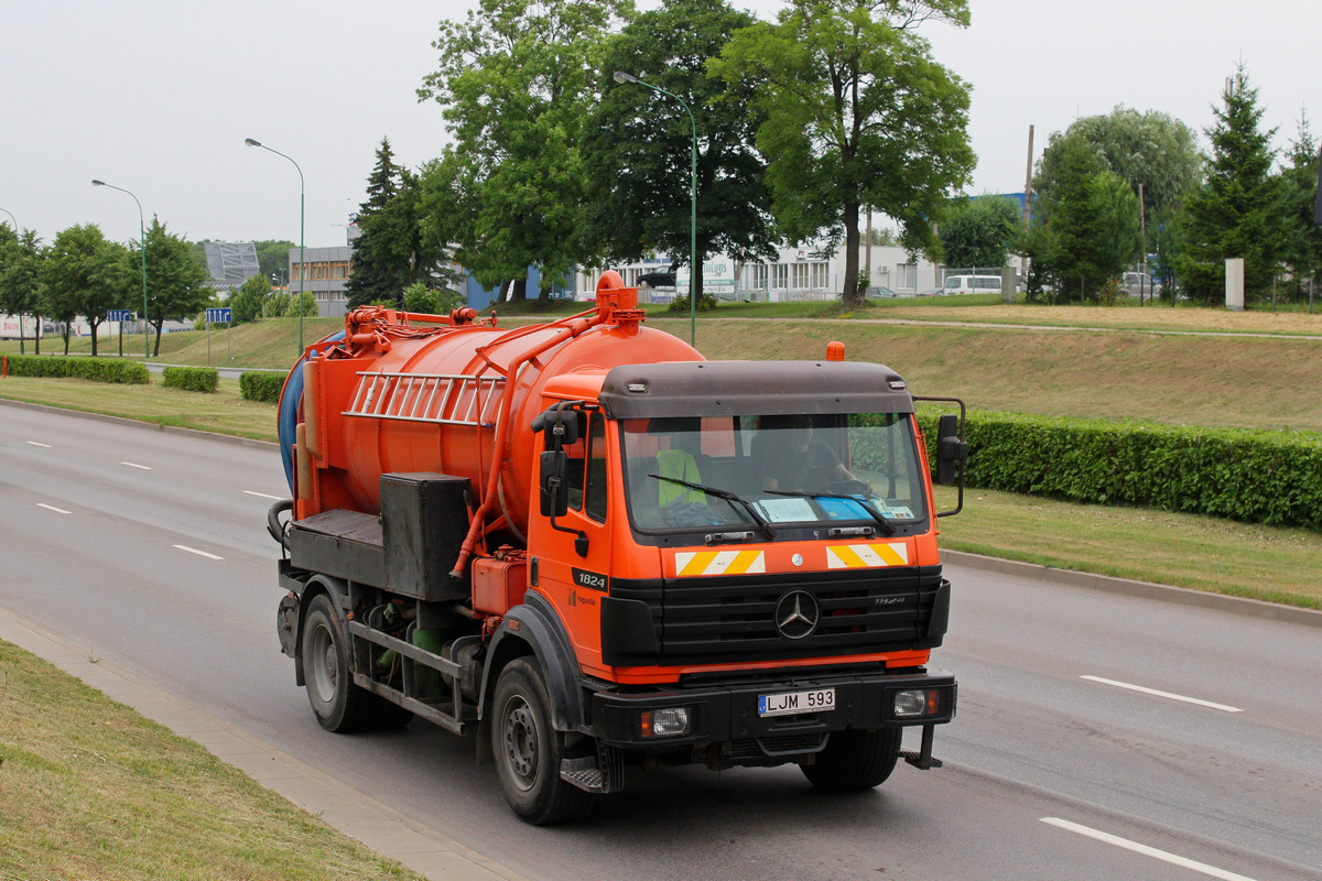
[[[345,733],[368,724],[375,695],[353,684],[349,637],[330,597],[324,593],[308,604],[303,621],[303,671],[308,703],[321,728]]]

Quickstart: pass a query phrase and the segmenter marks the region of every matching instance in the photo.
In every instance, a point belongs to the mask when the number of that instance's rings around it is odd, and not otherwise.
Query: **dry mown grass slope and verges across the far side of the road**
[[[568,314],[583,305],[506,305],[501,322]],[[649,324],[681,337],[689,333],[682,313],[657,309]],[[336,320],[307,321],[304,335],[312,341],[341,326]],[[223,333],[213,333],[213,365],[225,351]],[[297,349],[292,320],[230,333],[234,359],[227,363],[286,367]],[[709,358],[816,359],[832,339],[845,342],[851,359],[895,367],[917,394],[957,395],[978,409],[1322,432],[1322,383],[1315,382],[1322,314],[1047,308],[937,297],[862,309],[735,304],[698,318],[698,349]],[[206,363],[206,334],[169,334],[160,361]],[[0,396],[275,436],[274,408],[239,400],[235,380],[222,380],[218,395],[198,395],[157,384],[97,386],[91,394],[79,380],[11,379]],[[941,527],[945,547],[953,549],[1322,608],[1313,568],[1322,535],[1306,530],[984,491],[970,494],[964,514]]]

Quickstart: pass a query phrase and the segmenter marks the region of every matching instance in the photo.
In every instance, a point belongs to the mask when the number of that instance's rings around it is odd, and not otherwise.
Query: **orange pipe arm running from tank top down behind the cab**
[[[616,317],[617,312],[624,312],[625,314],[629,314],[627,312],[628,306],[625,309],[621,309],[621,300],[625,300],[628,295],[625,293],[623,297],[612,296],[613,292],[616,291],[624,292],[628,291],[628,288],[624,287],[624,279],[620,277],[619,272],[616,272],[615,269],[607,269],[605,272],[602,273],[600,280],[598,280],[596,283],[596,305],[592,309],[580,312],[578,314],[567,316],[549,325],[529,325],[527,328],[510,330],[509,333],[501,334],[501,337],[498,337],[489,345],[477,349],[476,354],[480,355],[483,361],[485,361],[492,370],[502,374],[506,378],[506,380],[509,380],[510,378],[518,375],[520,367],[522,367],[533,358],[537,358],[542,353],[554,349],[561,343],[566,342],[567,339],[572,339],[591,330],[595,326],[608,324],[611,320]],[[636,289],[633,296],[637,297]],[[629,305],[631,306],[637,305],[637,301],[635,300],[635,302]],[[592,317],[584,321],[584,318],[588,314],[592,314]],[[509,365],[504,367],[493,362],[486,355],[486,350],[492,349],[493,346],[498,346],[510,342],[513,339],[517,339],[520,337],[527,335],[529,333],[537,330],[546,330],[547,328],[554,328],[557,325],[561,325],[563,329],[568,330],[568,334],[567,335],[555,334],[550,339],[543,341],[542,343],[534,346],[533,349],[520,353],[509,362]],[[476,511],[473,511],[473,518],[468,523],[468,534],[464,536],[464,543],[459,548],[459,559],[455,560],[455,568],[449,572],[449,575],[455,579],[463,577],[464,567],[468,565],[468,560],[473,555],[473,548],[477,547],[477,536],[485,528],[486,515],[496,505],[496,485],[500,482],[501,464],[505,461],[505,450],[509,446],[509,431],[506,431],[506,425],[509,424],[509,415],[510,409],[513,408],[513,402],[514,402],[513,394],[506,394],[501,398],[500,413],[496,417],[496,448],[492,450],[492,464],[489,473],[486,476],[486,489],[483,493],[483,503],[477,507]]]

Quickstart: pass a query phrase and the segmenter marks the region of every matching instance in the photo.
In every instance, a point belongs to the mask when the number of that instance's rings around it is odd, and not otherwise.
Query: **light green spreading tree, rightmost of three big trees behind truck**
[[[731,86],[752,83],[776,221],[791,240],[843,238],[849,300],[863,297],[859,209],[898,221],[912,251],[931,250],[932,221],[973,170],[968,87],[917,34],[933,18],[968,26],[966,0],[793,0],[710,65]]]

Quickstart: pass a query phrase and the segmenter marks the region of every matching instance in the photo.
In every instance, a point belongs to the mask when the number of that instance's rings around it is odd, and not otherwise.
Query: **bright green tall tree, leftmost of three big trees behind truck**
[[[446,108],[455,148],[432,182],[464,190],[469,226],[452,240],[480,283],[525,279],[533,265],[546,299],[580,262],[583,125],[604,36],[631,9],[629,0],[483,0],[467,21],[440,24],[440,67],[418,95]]]

